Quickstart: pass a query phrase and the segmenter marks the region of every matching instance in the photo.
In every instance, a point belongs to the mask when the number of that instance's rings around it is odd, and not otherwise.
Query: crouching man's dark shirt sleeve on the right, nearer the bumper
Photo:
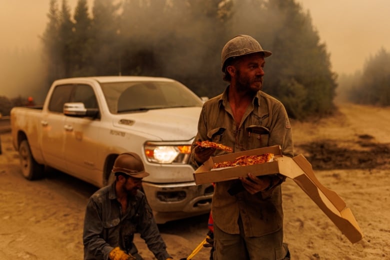
[[[166,251],[165,242],[162,240],[151,208],[145,198],[142,199],[141,203],[140,208],[143,208],[143,210],[140,210],[141,212],[139,212],[140,222],[138,225],[138,232],[157,260],[165,260],[171,256]]]

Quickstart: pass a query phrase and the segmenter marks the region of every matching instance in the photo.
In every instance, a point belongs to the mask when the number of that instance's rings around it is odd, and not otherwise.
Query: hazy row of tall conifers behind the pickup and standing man
[[[73,13],[73,14],[72,14]],[[264,91],[290,117],[334,109],[336,74],[311,17],[295,0],[50,0],[41,35],[47,87],[57,78],[150,75],[177,79],[200,96],[224,90],[220,52],[237,34],[264,49]]]

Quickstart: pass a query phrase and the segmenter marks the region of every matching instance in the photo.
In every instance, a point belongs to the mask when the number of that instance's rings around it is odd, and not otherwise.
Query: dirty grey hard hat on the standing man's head
[[[225,72],[226,61],[232,57],[238,57],[250,53],[262,52],[264,57],[268,57],[272,52],[263,50],[260,43],[249,35],[237,35],[226,42],[221,53],[222,72]]]

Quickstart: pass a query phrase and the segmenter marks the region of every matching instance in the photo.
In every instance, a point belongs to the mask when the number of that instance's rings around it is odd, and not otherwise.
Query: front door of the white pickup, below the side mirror
[[[85,108],[98,108],[90,85],[74,85],[69,102],[82,102]],[[98,185],[102,169],[97,168],[100,118],[66,116],[64,156],[70,174]]]

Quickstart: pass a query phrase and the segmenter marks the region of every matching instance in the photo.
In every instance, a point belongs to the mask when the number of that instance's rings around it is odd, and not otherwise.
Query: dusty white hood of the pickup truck
[[[113,125],[161,141],[190,140],[197,132],[201,107],[151,109],[115,115]]]

